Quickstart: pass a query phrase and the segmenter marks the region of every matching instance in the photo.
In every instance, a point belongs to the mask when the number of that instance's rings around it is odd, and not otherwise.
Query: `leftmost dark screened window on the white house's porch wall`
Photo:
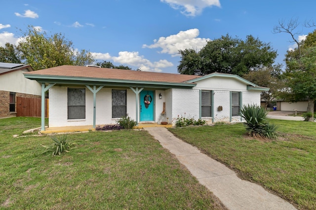
[[[85,89],[68,88],[68,119],[85,119]]]

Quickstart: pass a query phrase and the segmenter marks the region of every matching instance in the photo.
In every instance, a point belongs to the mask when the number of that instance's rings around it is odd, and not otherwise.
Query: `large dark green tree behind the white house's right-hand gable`
[[[270,43],[264,43],[252,35],[246,40],[232,38],[228,34],[208,41],[197,52],[194,49],[180,50],[181,61],[178,72],[181,74],[206,75],[213,72],[237,74],[271,66],[276,58],[276,51]]]

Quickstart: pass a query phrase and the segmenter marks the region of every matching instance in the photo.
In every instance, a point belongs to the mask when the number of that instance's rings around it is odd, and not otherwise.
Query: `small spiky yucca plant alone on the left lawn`
[[[61,155],[62,152],[69,152],[70,150],[77,148],[77,147],[73,147],[75,143],[69,143],[67,141],[67,137],[68,137],[68,133],[62,134],[59,136],[57,136],[56,134],[53,134],[50,137],[53,140],[53,145],[51,147],[41,145],[44,148],[46,148],[46,150],[43,151],[42,153],[52,152],[52,156],[55,156],[55,155]]]

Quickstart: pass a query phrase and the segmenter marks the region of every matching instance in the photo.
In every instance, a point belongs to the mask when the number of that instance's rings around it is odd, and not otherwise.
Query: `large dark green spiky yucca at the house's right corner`
[[[240,116],[246,120],[246,130],[252,137],[276,138],[277,126],[270,124],[267,119],[268,111],[258,105],[244,105]]]

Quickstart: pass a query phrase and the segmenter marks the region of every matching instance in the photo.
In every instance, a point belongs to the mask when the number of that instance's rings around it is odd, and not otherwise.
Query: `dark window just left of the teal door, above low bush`
[[[126,90],[112,90],[112,118],[126,115]]]

